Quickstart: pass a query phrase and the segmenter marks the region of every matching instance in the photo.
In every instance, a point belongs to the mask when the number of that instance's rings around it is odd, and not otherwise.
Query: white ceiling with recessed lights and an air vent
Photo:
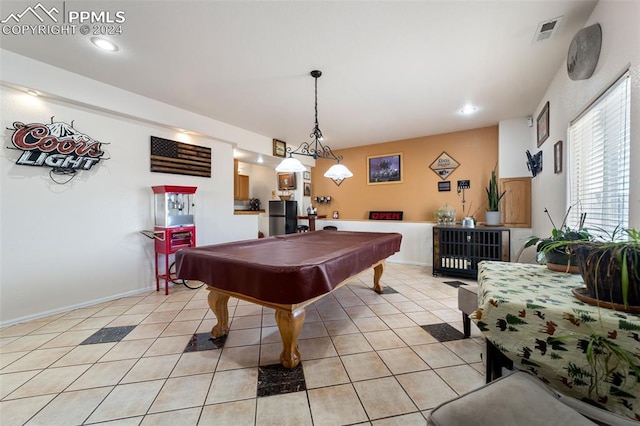
[[[30,2],[3,0],[0,18]],[[48,5],[54,2],[47,2]],[[120,50],[88,36],[1,47],[291,145],[346,148],[534,115],[596,1],[66,1],[125,12]],[[538,24],[564,16],[550,40]],[[463,116],[467,103],[479,110]]]

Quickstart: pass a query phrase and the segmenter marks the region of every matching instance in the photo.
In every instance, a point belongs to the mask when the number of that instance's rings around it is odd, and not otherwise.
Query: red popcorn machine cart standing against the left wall
[[[174,281],[169,267],[169,257],[178,250],[196,246],[194,221],[195,186],[153,186],[155,227],[156,290],[164,280],[164,294],[169,294],[169,281]],[[164,272],[158,271],[158,256],[164,255]],[[187,286],[189,287],[189,286]]]

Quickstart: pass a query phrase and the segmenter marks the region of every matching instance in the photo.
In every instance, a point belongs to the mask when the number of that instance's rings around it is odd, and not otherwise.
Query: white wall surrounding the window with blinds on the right
[[[602,27],[602,49],[595,72],[588,80],[572,81],[566,62],[560,66],[533,116],[549,102],[550,133],[542,145],[544,170],[532,182],[532,221],[535,235],[547,235],[551,224],[544,213],[548,208],[554,220],[561,220],[567,205],[567,173],[553,173],[553,145],[567,142],[569,122],[631,65],[631,199],[629,223],[640,227],[640,2],[600,1],[586,26]],[[537,152],[535,132],[529,149]],[[566,146],[565,146],[566,154]],[[566,155],[564,156],[566,158]],[[566,164],[566,163],[565,163]]]

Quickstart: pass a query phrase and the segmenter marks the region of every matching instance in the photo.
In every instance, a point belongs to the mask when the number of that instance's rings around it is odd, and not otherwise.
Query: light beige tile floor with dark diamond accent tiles
[[[379,295],[372,277],[307,308],[302,385],[270,396],[257,388],[270,385],[260,376],[281,351],[273,310],[231,299],[224,346],[185,352],[216,322],[204,288],[174,286],[168,296],[149,292],[0,329],[0,423],[424,425],[433,407],[484,383],[483,339],[473,325],[471,338],[460,338],[457,289],[444,283],[464,280],[388,263],[390,288]],[[80,344],[126,326],[135,327],[119,341]]]

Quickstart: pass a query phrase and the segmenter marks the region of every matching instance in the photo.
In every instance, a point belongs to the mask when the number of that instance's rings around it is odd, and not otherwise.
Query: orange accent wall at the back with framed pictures
[[[443,151],[460,164],[445,180],[429,168]],[[368,185],[367,157],[394,153],[402,153],[402,183]],[[458,220],[471,208],[476,219],[484,221],[485,187],[498,162],[498,126],[343,149],[336,154],[344,156],[341,163],[354,176],[336,186],[323,176],[333,163],[316,161],[311,171],[311,195],[331,196],[330,204],[312,202],[318,214],[331,218],[337,210],[340,219],[363,220],[369,218],[370,210],[394,210],[404,212],[404,221],[432,222],[436,211],[448,203]],[[471,188],[465,190],[464,215],[462,194],[457,193],[457,181],[463,179],[471,181]],[[438,192],[438,182],[447,180],[451,191]]]

